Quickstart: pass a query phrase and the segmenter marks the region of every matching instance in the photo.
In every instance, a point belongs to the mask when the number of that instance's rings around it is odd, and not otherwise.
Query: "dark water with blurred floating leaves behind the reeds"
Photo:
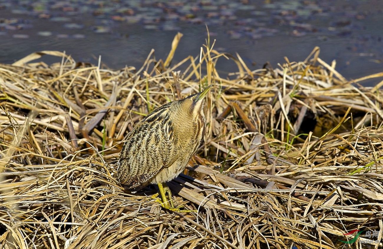
[[[165,59],[182,32],[173,63],[199,55],[208,25],[215,49],[241,55],[251,70],[304,60],[315,46],[347,79],[383,71],[381,0],[0,0],[0,63],[59,50],[76,61],[139,68],[151,49]],[[47,63],[58,58],[43,58]],[[219,61],[223,72],[233,62]],[[224,76],[224,75],[222,75]],[[380,79],[368,82],[376,84]]]

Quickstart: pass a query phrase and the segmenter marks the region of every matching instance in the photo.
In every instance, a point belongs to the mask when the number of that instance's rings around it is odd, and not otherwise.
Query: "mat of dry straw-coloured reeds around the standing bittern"
[[[361,248],[375,231],[363,248],[381,248],[383,73],[347,81],[319,48],[251,71],[205,45],[174,65],[179,38],[139,69],[52,51],[0,65],[0,247]],[[44,54],[61,62],[31,63]],[[163,210],[153,186],[124,191],[116,160],[134,123],[209,84],[203,146],[169,183],[198,212]]]

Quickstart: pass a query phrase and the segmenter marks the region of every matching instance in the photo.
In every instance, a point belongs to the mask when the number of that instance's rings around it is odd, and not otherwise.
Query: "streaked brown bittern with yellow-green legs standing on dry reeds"
[[[188,211],[174,208],[172,192],[166,183],[185,169],[200,147],[206,126],[203,103],[210,87],[162,105],[137,123],[119,156],[117,172],[121,184],[128,189],[157,184],[162,198],[157,201],[162,207]]]

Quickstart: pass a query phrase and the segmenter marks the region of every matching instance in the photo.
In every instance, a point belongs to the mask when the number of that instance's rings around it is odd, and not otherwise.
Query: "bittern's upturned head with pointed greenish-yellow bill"
[[[205,95],[209,92],[211,85],[206,87],[202,92],[190,95],[183,100],[180,100],[181,109],[184,110],[184,113],[188,113],[193,118],[198,118],[198,116],[203,113],[203,102]]]

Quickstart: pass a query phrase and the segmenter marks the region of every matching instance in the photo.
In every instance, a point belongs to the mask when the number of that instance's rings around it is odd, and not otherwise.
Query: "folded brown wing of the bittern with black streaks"
[[[176,160],[168,113],[151,114],[136,125],[121,151],[119,179],[128,188],[147,185],[162,168],[170,167]]]

